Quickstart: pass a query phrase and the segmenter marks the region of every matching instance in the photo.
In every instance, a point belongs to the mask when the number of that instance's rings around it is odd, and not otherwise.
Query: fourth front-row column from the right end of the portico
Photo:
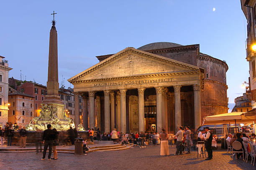
[[[145,88],[138,88],[139,132],[145,132],[144,90]]]

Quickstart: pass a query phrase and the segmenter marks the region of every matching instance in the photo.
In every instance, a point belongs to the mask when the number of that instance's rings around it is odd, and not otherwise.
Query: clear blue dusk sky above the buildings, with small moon
[[[213,10],[215,9],[215,11]],[[46,85],[51,13],[58,31],[59,84],[95,65],[95,56],[151,42],[200,44],[228,64],[229,103],[248,82],[246,19],[240,0],[2,1],[0,55],[9,77]],[[72,87],[72,86],[71,86]]]

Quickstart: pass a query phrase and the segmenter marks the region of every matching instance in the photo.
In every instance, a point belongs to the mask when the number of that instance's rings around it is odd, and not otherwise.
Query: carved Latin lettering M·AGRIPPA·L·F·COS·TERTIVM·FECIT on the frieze
[[[158,78],[150,80],[127,80],[127,81],[113,81],[113,82],[100,82],[95,83],[94,87],[108,87],[108,86],[118,86],[118,85],[142,85],[149,83],[160,83],[160,82],[172,82],[172,78]]]

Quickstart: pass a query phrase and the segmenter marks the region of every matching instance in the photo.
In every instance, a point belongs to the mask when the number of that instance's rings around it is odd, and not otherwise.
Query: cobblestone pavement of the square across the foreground
[[[212,160],[197,158],[197,152],[174,156],[160,156],[160,146],[132,147],[128,150],[94,152],[88,155],[58,154],[58,160],[39,160],[36,153],[0,153],[1,170],[253,170],[251,160],[232,160],[225,150],[214,150]],[[48,153],[46,154],[47,158]],[[53,156],[53,154],[52,154]]]

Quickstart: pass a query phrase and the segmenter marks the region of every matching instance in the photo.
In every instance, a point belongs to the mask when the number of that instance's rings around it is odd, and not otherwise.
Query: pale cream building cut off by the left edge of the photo
[[[0,56],[0,127],[2,128],[8,122],[8,78],[9,71],[12,70],[4,58]]]

